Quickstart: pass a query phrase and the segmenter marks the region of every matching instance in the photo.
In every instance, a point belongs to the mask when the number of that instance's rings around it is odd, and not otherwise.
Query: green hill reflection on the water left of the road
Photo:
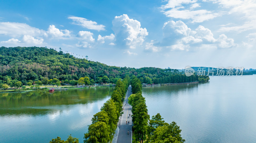
[[[54,105],[93,103],[112,92],[113,88],[92,88],[55,91],[53,94],[41,90],[24,93],[0,93],[0,116],[6,114],[45,115],[50,110],[54,110]]]

